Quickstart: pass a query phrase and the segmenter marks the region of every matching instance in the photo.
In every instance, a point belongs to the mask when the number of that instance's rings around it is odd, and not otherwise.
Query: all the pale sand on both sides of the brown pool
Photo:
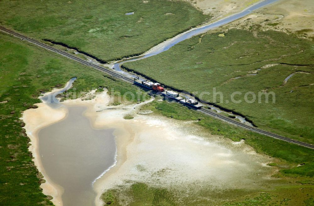
[[[41,188],[43,193],[53,197],[55,205],[62,205],[63,191],[49,179],[41,166],[37,133],[41,128],[65,118],[66,106],[85,106],[87,110],[84,116],[90,119],[94,128],[115,129],[117,161],[94,183],[96,205],[103,204],[100,196],[104,191],[125,185],[124,180],[169,188],[204,182],[213,187],[249,189],[262,187],[274,172],[266,165],[269,157],[256,154],[246,144],[235,144],[229,139],[209,135],[193,125],[193,121],[136,115],[141,104],[108,106],[110,101],[105,91],[95,95],[92,100],[66,100],[61,104],[64,107],[58,109],[39,103],[37,109],[24,111],[22,119],[31,138],[30,151],[35,157],[35,165],[47,181],[41,184]],[[123,119],[130,113],[135,115],[134,119]],[[160,174],[160,171],[164,174]],[[247,178],[243,179],[243,176]],[[127,201],[124,203],[127,204]]]

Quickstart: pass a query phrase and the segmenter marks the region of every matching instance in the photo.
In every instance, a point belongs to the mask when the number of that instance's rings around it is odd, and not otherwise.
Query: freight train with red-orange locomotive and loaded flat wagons
[[[166,90],[165,88],[162,87],[159,83],[153,83],[153,82],[149,82],[147,80],[139,80],[139,77],[135,77],[134,78],[134,84],[140,85],[146,89],[149,90],[154,90],[154,91],[159,91],[161,92],[162,95],[174,99],[182,104],[191,106],[193,108],[199,109],[202,107],[202,105],[198,104],[198,101],[192,100],[191,98],[183,98],[179,95],[179,93],[176,93],[174,91],[171,90]]]

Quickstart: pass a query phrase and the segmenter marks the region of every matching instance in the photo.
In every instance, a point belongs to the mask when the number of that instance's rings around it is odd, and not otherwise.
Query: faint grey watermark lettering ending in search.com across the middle
[[[54,93],[48,93],[44,94],[41,97],[41,100],[49,102],[49,103],[59,103],[60,99],[62,98],[85,98],[87,95],[92,96],[96,94],[100,94],[98,92],[105,91],[107,94],[111,95],[112,97],[115,97],[115,101],[117,103],[122,102],[141,102],[149,99],[150,96],[164,96],[166,100],[173,100],[173,96],[165,95],[165,92],[155,92],[155,91],[146,91],[143,92],[140,88],[137,90],[127,90],[122,92],[121,90],[115,90],[114,88],[106,89],[106,88],[98,88],[92,90],[92,92],[89,93],[82,93],[77,92],[76,88],[72,88],[71,90],[66,91],[58,91]],[[252,92],[252,91],[232,91],[230,92],[222,92],[217,90],[215,87],[212,88],[211,91],[203,91],[203,92],[175,92],[179,95],[181,98],[192,98],[197,99],[201,103],[234,103],[234,104],[253,104],[253,103],[263,103],[263,104],[275,104],[276,103],[276,94],[271,91],[258,91],[258,92]]]

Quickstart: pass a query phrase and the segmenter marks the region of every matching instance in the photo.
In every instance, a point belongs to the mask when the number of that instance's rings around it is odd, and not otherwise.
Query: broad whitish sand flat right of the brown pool
[[[134,110],[86,111],[94,127],[116,129],[117,163],[95,182],[96,205],[103,204],[103,192],[128,186],[126,182],[197,191],[190,186],[200,183],[202,187],[204,183],[219,189],[256,189],[271,179],[274,169],[267,166],[269,157],[257,154],[243,142],[210,135],[194,121],[154,115],[124,120],[130,112]],[[127,205],[127,199],[121,204]]]

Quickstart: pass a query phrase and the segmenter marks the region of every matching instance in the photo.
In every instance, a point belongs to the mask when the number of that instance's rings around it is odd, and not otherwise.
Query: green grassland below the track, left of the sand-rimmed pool
[[[2,33],[0,53],[0,205],[51,205],[39,187],[43,180],[27,149],[30,140],[19,120],[21,112],[40,102],[41,91],[64,85],[72,77],[77,80],[69,91],[75,88],[76,94],[100,86],[122,95],[143,90]]]

